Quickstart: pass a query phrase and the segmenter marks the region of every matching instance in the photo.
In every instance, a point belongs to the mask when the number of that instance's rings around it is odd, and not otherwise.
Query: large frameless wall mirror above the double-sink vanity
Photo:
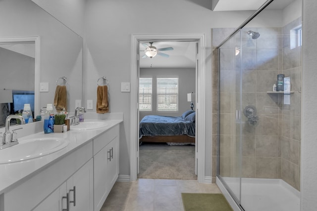
[[[75,100],[82,99],[82,38],[32,0],[1,0],[0,26],[0,92],[12,92],[14,101],[5,103],[0,93],[0,127],[32,100],[34,117],[40,115],[41,107],[53,104],[61,77],[67,78],[67,111],[74,112]]]

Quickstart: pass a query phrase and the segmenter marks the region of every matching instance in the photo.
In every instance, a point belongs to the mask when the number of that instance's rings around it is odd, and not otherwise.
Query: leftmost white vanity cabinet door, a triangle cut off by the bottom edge
[[[66,197],[66,183],[59,186],[33,211],[61,211],[62,209],[66,209],[67,200],[62,197]]]

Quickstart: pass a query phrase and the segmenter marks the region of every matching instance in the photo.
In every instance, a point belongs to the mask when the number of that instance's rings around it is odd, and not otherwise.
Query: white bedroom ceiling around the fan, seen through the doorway
[[[149,42],[141,42],[147,43]],[[173,47],[173,50],[161,51],[169,57],[156,55],[153,58],[142,58],[145,47],[140,43],[140,68],[195,68],[196,44],[195,42],[153,42],[153,46],[159,48]]]

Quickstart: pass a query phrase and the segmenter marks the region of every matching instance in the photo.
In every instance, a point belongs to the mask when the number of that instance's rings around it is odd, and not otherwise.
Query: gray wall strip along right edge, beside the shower
[[[317,1],[303,0],[301,211],[317,208]]]

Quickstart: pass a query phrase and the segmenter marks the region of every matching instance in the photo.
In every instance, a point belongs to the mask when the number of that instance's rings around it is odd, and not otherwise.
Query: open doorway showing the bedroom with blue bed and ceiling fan
[[[197,179],[196,45],[195,41],[139,43],[138,178]]]

